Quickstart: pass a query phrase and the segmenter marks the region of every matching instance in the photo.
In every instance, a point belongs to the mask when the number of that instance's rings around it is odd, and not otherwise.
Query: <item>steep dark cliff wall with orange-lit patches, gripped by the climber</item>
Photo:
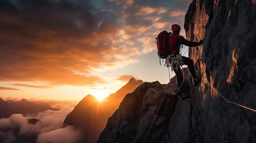
[[[202,55],[189,53],[198,73],[227,100],[256,109],[256,1],[194,0],[191,7],[187,39],[204,38],[195,48]],[[206,78],[191,101],[197,142],[255,143],[256,112],[226,102]]]

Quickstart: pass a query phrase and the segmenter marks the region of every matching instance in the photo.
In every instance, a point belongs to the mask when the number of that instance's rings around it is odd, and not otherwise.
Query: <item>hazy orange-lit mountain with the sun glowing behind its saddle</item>
[[[108,118],[117,110],[124,97],[143,83],[144,81],[132,77],[126,85],[101,102],[92,95],[85,96],[67,115],[64,124],[81,128],[84,132],[84,141],[96,143],[107,124]]]

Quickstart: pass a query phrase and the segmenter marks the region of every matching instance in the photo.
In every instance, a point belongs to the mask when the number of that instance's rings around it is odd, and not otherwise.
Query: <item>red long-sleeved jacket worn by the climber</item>
[[[180,44],[194,47],[200,45],[199,42],[193,42],[186,40],[183,36],[179,35],[176,32],[173,32],[169,39],[169,46],[171,53],[179,54],[180,53]]]

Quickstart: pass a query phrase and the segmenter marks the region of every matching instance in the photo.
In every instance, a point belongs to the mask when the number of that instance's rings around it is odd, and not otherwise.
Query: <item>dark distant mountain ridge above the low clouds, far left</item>
[[[11,114],[34,114],[46,110],[58,111],[59,109],[51,107],[48,103],[35,103],[22,99],[21,101],[0,99],[0,118],[7,118]]]

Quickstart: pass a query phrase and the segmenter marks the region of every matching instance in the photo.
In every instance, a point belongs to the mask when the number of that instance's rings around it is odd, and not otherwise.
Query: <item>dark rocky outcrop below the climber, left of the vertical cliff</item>
[[[184,75],[187,82],[190,79],[187,69]],[[98,143],[182,143],[195,140],[191,99],[179,99],[173,95],[177,90],[176,77],[168,85],[155,81],[136,88],[126,95],[118,110],[108,119]]]

